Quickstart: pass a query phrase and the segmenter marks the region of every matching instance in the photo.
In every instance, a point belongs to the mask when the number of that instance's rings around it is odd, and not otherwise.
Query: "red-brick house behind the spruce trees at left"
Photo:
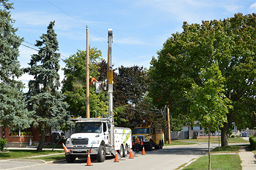
[[[26,145],[37,145],[40,142],[40,129],[28,128],[25,130],[12,131],[9,128],[0,127],[0,138],[7,139],[7,147],[26,147]],[[52,142],[51,129],[46,130],[45,144]]]

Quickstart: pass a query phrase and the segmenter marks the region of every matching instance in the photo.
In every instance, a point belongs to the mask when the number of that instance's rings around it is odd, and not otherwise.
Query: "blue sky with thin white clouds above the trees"
[[[114,68],[134,65],[149,69],[153,56],[163,48],[172,33],[182,32],[183,22],[188,24],[210,20],[223,20],[235,13],[256,12],[256,1],[241,0],[10,0],[18,28],[16,35],[25,42],[20,46],[18,60],[22,67],[29,67],[32,49],[42,33],[46,33],[50,21],[59,42],[62,60],[78,50],[86,51],[86,26],[89,45],[102,51],[107,60],[108,29],[113,30],[112,61]],[[60,81],[63,71],[59,71]],[[27,87],[33,77],[20,77]],[[25,91],[28,89],[26,88]]]

